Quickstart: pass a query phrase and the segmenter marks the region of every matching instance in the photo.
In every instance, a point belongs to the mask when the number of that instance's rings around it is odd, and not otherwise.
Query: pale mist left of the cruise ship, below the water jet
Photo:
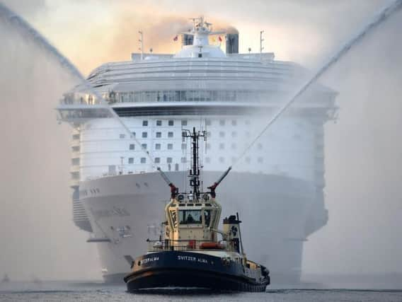
[[[99,277],[96,249],[71,219],[71,129],[57,124],[54,110],[76,81],[10,25],[1,23],[0,37],[0,274]]]

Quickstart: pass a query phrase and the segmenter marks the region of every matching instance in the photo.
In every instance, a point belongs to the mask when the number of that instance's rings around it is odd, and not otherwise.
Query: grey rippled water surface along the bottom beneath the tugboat
[[[0,284],[0,301],[402,301],[402,290],[268,289],[265,293],[217,293],[200,290],[127,293],[125,286],[68,282]]]

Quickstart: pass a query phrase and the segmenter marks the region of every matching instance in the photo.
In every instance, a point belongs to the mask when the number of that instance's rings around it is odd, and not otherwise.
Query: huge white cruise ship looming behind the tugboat
[[[168,187],[156,168],[190,190],[181,132],[197,127],[207,133],[205,185],[236,163],[219,196],[247,226],[246,255],[270,267],[273,284],[298,282],[304,242],[328,221],[323,125],[336,119],[337,93],[314,84],[237,161],[307,71],[272,53],[239,53],[239,33],[214,32],[204,18],[179,35],[176,54],[141,52],[103,64],[88,76],[91,89],[79,85],[62,96],[58,119],[73,127],[74,223],[97,245],[105,281],[121,283],[135,255],[146,252],[144,238],[163,231]]]

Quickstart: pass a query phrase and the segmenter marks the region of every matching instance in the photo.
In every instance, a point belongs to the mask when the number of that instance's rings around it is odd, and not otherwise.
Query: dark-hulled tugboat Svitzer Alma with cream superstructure
[[[164,232],[158,240],[147,239],[148,252],[132,261],[132,272],[124,278],[129,292],[166,287],[265,291],[270,284],[268,269],[246,257],[239,214],[226,217],[223,230],[218,229],[222,207],[215,190],[231,167],[202,192],[198,142],[200,137],[206,140],[206,135],[195,128],[193,132],[183,130],[183,140],[192,141],[190,192],[179,192],[158,168],[171,187],[166,221],[162,223]]]

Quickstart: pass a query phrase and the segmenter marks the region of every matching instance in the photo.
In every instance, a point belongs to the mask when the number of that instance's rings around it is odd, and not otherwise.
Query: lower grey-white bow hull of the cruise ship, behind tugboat
[[[188,182],[186,172],[168,177],[178,186]],[[204,187],[219,172],[203,173]],[[81,182],[80,202],[91,223],[105,281],[122,283],[130,272],[130,261],[147,250],[147,238],[159,238],[163,207],[169,187],[159,173],[117,175]],[[231,173],[218,190],[226,213],[239,212],[246,228],[242,230],[246,255],[270,267],[272,283],[299,281],[306,226],[326,210],[316,202],[313,184],[280,175]],[[230,202],[229,202],[230,201]],[[321,224],[321,223],[320,223]],[[317,226],[320,227],[320,226]]]

